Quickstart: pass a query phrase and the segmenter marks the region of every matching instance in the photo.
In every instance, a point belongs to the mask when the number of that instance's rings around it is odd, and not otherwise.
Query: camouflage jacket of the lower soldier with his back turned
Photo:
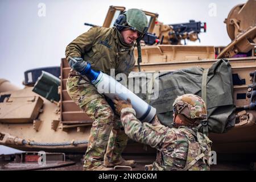
[[[157,119],[157,117],[155,117]],[[209,170],[211,141],[195,129],[174,129],[160,123],[141,123],[135,110],[121,110],[121,121],[129,138],[158,150],[153,170]],[[201,155],[200,155],[201,154]],[[198,161],[194,160],[200,155]],[[191,162],[195,163],[192,165]],[[185,168],[186,167],[186,168]]]

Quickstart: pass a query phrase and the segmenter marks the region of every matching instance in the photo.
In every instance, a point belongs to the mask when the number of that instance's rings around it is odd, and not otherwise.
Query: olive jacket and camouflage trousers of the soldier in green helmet
[[[115,69],[115,74],[128,75],[134,67],[133,45],[124,43],[122,35],[114,27],[90,28],[67,46],[65,54],[66,57],[82,57],[91,64],[92,69],[108,75],[112,68]],[[72,100],[93,119],[84,168],[100,166],[105,150],[105,159],[109,162],[121,160],[121,153],[127,144],[127,136],[119,117],[114,116],[104,96],[97,92],[97,88],[86,76],[79,75],[73,69],[69,72],[67,92]]]

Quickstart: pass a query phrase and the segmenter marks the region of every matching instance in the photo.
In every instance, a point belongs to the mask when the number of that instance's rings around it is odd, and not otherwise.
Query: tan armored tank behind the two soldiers
[[[209,68],[216,62],[216,53],[220,58],[228,57],[234,81],[230,92],[233,92],[234,105],[237,106],[237,119],[236,125],[226,133],[210,133],[213,150],[217,154],[256,154],[255,8],[255,1],[250,0],[230,11],[225,22],[233,42],[228,48],[157,43],[142,47],[142,72]],[[113,24],[115,15],[123,10],[123,7],[111,6],[104,26]],[[148,30],[152,34],[157,28],[157,16],[149,12],[146,14],[150,16]],[[161,39],[160,34],[155,34],[158,35],[160,37],[156,38]],[[170,44],[169,40],[167,42]],[[240,52],[246,52],[247,57],[234,58]],[[36,74],[27,71],[26,86],[21,90],[6,80],[0,81],[0,144],[25,151],[85,152],[92,120],[68,96],[65,83],[69,69],[67,60],[61,59],[60,74],[48,71],[57,77],[43,73],[37,82],[34,78]],[[138,69],[135,65],[134,71]],[[126,152],[155,151],[144,151],[141,144],[131,142]]]

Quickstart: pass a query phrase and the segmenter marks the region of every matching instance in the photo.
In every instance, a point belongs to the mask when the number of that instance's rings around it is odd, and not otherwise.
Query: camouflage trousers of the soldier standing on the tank
[[[121,160],[128,137],[120,117],[115,115],[104,96],[97,92],[88,78],[69,73],[67,91],[77,105],[93,119],[84,168],[103,164],[103,160],[115,163]]]

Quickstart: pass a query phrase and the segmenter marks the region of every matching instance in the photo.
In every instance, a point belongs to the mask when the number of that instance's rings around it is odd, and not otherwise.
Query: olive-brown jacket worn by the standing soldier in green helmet
[[[115,69],[115,75],[128,75],[134,67],[134,44],[123,42],[121,33],[115,28],[94,26],[88,32],[78,36],[68,44],[65,55],[82,57],[96,71],[110,75],[110,69]]]

